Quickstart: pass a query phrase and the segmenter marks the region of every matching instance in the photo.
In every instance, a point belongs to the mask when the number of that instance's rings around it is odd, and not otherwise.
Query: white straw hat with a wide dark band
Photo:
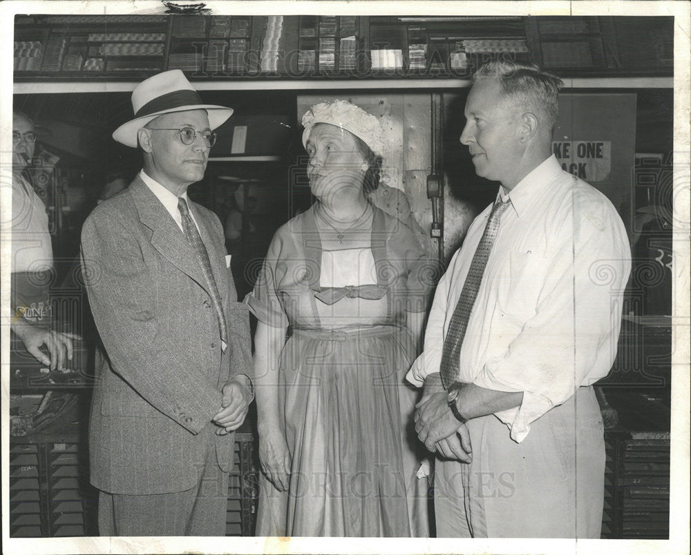
[[[171,112],[207,110],[209,126],[216,129],[233,113],[233,108],[204,104],[181,70],[164,71],[144,79],[132,93],[134,118],[113,132],[113,139],[137,147],[137,132],[155,117]]]

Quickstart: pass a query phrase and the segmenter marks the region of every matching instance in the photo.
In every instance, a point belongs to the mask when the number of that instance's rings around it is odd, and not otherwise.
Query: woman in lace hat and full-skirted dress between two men
[[[336,100],[302,123],[316,202],[276,231],[245,301],[258,319],[256,534],[427,536],[404,376],[428,259],[366,197],[386,140],[377,117]]]

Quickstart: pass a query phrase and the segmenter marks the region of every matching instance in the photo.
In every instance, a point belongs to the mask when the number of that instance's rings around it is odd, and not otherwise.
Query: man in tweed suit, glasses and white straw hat
[[[144,168],[84,223],[86,289],[104,347],[91,407],[91,483],[104,536],[223,536],[234,434],[254,398],[247,309],[223,227],[191,202],[215,128],[180,70],[132,94],[113,133]]]

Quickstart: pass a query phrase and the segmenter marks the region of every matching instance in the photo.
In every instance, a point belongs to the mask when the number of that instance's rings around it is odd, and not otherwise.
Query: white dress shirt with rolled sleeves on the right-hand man
[[[460,351],[457,380],[522,391],[495,413],[520,442],[530,424],[580,386],[607,376],[616,356],[631,253],[607,197],[562,171],[554,156],[509,193]],[[422,386],[439,371],[444,338],[491,211],[473,224],[439,280],[424,351],[408,372]]]

